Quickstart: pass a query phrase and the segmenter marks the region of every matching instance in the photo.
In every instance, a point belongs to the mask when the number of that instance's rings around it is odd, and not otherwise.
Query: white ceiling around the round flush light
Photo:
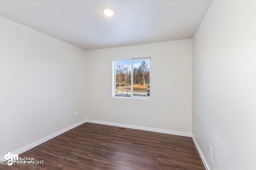
[[[0,15],[85,50],[192,38],[212,0],[1,0]],[[116,15],[106,18],[102,8]]]

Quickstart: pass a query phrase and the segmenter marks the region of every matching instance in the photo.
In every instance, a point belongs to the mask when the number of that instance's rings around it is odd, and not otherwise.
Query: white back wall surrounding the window
[[[138,57],[151,57],[152,99],[112,98],[112,59]],[[191,133],[192,39],[88,51],[88,62],[87,119]]]

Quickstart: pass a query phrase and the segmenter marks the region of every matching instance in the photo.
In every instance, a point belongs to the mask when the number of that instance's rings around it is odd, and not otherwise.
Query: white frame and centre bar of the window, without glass
[[[116,96],[116,61],[131,61],[131,96],[123,97],[123,96]],[[141,60],[149,60],[149,96],[134,96],[133,95],[133,62],[134,61],[141,61]],[[132,59],[113,59],[113,98],[138,98],[138,99],[151,99],[151,57],[142,57],[142,58],[132,58]]]

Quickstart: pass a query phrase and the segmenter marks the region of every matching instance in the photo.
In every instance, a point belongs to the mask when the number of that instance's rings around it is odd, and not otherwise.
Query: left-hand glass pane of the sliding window
[[[115,96],[131,97],[131,60],[115,61]]]

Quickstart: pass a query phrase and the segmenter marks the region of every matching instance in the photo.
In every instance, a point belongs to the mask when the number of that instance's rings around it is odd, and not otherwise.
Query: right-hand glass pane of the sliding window
[[[150,96],[150,60],[133,61],[133,96]]]

